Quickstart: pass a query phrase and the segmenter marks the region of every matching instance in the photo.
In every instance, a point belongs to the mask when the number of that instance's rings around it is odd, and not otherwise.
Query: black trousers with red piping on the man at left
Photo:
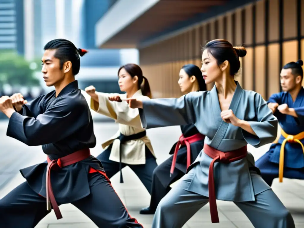
[[[129,215],[105,176],[92,173],[88,174],[88,180],[91,194],[71,204],[98,227],[143,228]],[[47,211],[46,199],[34,192],[27,182],[23,182],[0,200],[0,227],[33,228],[48,213],[50,211]]]

